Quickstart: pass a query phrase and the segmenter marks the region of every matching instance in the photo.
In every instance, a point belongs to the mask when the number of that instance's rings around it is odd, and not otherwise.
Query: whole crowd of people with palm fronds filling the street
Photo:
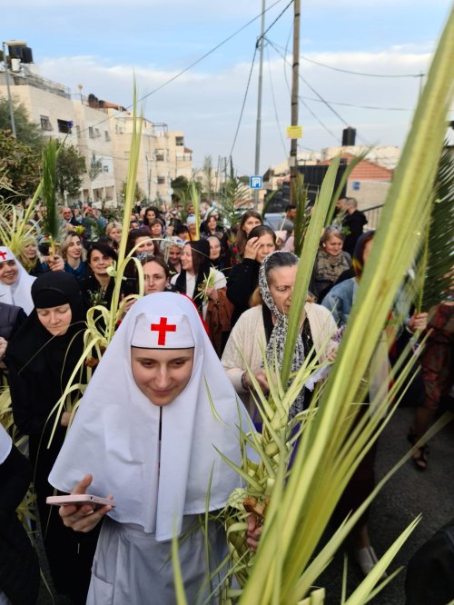
[[[339,206],[343,218],[323,230],[309,268],[310,292],[292,372],[314,355],[328,364],[334,361],[339,328],[348,322],[373,243],[374,232],[363,233],[365,217],[355,201],[347,199]],[[84,389],[79,410],[74,418],[63,410],[56,430],[49,418],[84,354],[87,312],[96,305],[109,308],[113,301],[123,226],[89,206],[82,212],[64,207],[61,236],[52,253],[43,244],[39,217],[16,253],[0,246],[3,380],[10,387],[17,430],[28,437],[54,588],[74,603],[173,603],[174,531],[186,536],[180,561],[187,598],[202,602],[213,590],[207,577],[220,575],[227,554],[222,524],[201,525],[199,515],[207,509],[207,491],[208,509],[219,511],[241,481],[212,446],[239,463],[238,414],[246,425],[250,419],[261,430],[254,382],[268,393],[264,362],[281,362],[283,356],[299,261],[292,252],[296,209],[287,209],[280,231],[284,237],[255,210],[242,213],[234,228],[223,223],[215,207],[201,217],[191,205],[187,210],[184,220],[177,211],[165,213],[157,206],[131,216],[125,253],[136,262],[126,266],[120,298],[137,296]],[[426,399],[410,429],[412,442],[427,430],[440,397],[452,386],[452,309],[450,300],[440,301],[435,316],[429,317],[435,330],[422,362]],[[414,312],[400,321],[400,335],[423,332],[428,314]],[[387,380],[389,348],[377,345],[381,381]],[[82,365],[72,378],[74,384],[85,384],[87,368]],[[74,389],[70,398],[79,399],[81,390]],[[372,391],[370,385],[366,403],[374,399]],[[222,423],[212,413],[210,393]],[[311,392],[303,389],[290,417],[310,400]],[[11,520],[30,470],[0,431],[0,477],[5,478],[1,553],[4,519]],[[353,475],[335,511],[336,522],[372,491],[375,452],[376,447]],[[413,460],[424,470],[427,447],[419,448]],[[12,470],[23,467],[17,477],[25,480],[4,491]],[[70,504],[57,510],[45,502],[54,490],[77,495],[90,491],[114,497],[117,505]],[[251,550],[256,550],[260,533],[259,524],[248,519],[245,541]],[[30,561],[29,594],[21,596],[22,581],[12,581],[0,566],[2,604],[36,599],[34,552],[20,528],[15,528],[15,540],[16,556]],[[377,555],[370,544],[367,511],[351,532],[351,548],[360,569],[369,573]]]

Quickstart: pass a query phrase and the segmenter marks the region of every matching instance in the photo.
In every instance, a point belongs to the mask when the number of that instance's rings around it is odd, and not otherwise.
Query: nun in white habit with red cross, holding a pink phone
[[[248,424],[237,402],[188,298],[154,293],[133,305],[94,372],[49,477],[60,491],[89,487],[116,501],[115,508],[60,511],[76,531],[89,531],[107,515],[87,603],[173,604],[175,532],[184,538],[179,556],[188,602],[210,593],[198,515],[206,510],[209,487],[209,510],[217,511],[240,485],[215,449],[240,463],[237,427]],[[208,541],[213,570],[227,553],[214,521]]]

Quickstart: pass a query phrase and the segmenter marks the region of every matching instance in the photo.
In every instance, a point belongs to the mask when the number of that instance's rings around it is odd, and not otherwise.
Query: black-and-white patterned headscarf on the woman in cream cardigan
[[[276,324],[274,325],[274,328],[271,332],[270,342],[268,342],[268,346],[266,347],[266,360],[268,364],[273,367],[275,358],[274,356],[276,355],[279,367],[281,368],[285,341],[287,338],[287,329],[289,326],[289,319],[277,308],[276,303],[274,302],[274,299],[271,296],[268,281],[266,279],[268,264],[274,254],[288,254],[291,258],[296,259],[296,263],[298,263],[298,257],[295,256],[295,254],[278,250],[276,252],[268,254],[268,256],[263,259],[259,269],[259,288],[260,293],[262,294],[263,302],[266,304],[266,306],[270,309],[271,313],[276,318]],[[296,342],[295,352],[293,354],[293,359],[291,362],[291,372],[298,372],[301,368],[302,362],[304,362],[304,345],[302,342],[301,333],[299,333]],[[290,384],[291,380],[289,381],[289,385]],[[293,416],[295,416],[298,412],[302,411],[303,403],[304,389],[301,389],[300,394],[291,405],[289,419],[293,418]]]

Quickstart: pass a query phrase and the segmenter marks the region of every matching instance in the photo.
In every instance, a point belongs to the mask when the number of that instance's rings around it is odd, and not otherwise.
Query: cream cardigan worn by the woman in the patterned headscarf
[[[306,302],[304,310],[311,326],[315,350],[319,352],[336,332],[336,323],[331,312],[320,304]],[[263,361],[262,351],[265,350],[266,334],[262,305],[258,305],[243,312],[238,322],[235,323],[221,359],[222,366],[232,381],[235,391],[240,395],[250,413],[254,411],[255,404],[251,393],[242,388],[242,374],[246,371],[245,362],[253,372],[260,370]],[[325,355],[322,354],[321,360],[324,357]]]

